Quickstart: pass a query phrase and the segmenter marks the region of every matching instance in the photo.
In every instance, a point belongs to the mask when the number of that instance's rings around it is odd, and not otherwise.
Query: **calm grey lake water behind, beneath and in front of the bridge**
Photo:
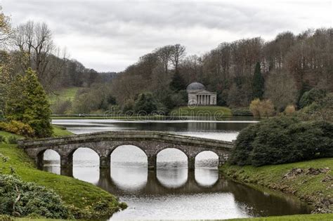
[[[111,119],[64,119],[54,124],[73,133],[107,130],[159,130],[218,140],[235,140],[242,128],[256,121],[117,121]],[[202,152],[195,159],[195,171],[188,171],[187,157],[178,149],[164,149],[157,155],[157,170],[147,168],[147,156],[138,147],[123,145],[111,155],[111,168],[98,167],[98,155],[79,148],[73,156],[72,176],[91,182],[119,196],[129,207],[111,219],[228,219],[268,215],[310,213],[305,203],[292,196],[261,192],[218,173],[218,157]],[[60,173],[60,156],[47,150],[44,170]]]

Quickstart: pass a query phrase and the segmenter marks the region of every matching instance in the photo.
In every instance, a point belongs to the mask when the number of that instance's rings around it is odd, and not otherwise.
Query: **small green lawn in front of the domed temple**
[[[231,116],[228,107],[221,106],[197,106],[197,107],[177,107],[171,110],[171,116]]]

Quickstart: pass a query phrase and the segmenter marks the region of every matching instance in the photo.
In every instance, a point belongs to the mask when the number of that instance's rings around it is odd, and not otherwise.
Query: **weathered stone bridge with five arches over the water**
[[[44,152],[52,149],[60,155],[60,167],[72,168],[73,154],[80,147],[90,148],[100,157],[100,168],[110,168],[111,154],[119,146],[133,145],[145,152],[148,157],[148,168],[155,169],[157,154],[163,149],[175,148],[188,157],[188,169],[195,168],[195,156],[200,152],[210,151],[218,156],[218,165],[226,161],[234,143],[223,140],[195,138],[157,131],[110,131],[86,133],[58,138],[37,140],[18,140],[18,146],[36,161],[43,165]]]

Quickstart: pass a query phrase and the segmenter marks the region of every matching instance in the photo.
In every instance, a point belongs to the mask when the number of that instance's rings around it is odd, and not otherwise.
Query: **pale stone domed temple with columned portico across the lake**
[[[188,105],[216,105],[216,92],[207,91],[202,83],[190,83],[186,91]]]

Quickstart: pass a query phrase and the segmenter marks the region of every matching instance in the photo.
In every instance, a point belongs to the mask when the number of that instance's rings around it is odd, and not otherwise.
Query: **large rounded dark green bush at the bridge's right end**
[[[279,116],[242,130],[230,163],[262,166],[332,156],[333,123]]]

